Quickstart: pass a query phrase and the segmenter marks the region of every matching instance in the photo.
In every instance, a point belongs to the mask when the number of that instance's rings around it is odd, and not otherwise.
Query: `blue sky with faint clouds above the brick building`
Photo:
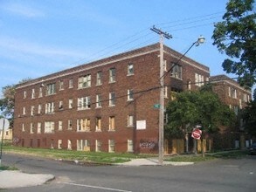
[[[0,88],[173,38],[164,45],[225,74],[211,39],[227,0],[0,0]],[[229,77],[235,77],[228,74]]]

